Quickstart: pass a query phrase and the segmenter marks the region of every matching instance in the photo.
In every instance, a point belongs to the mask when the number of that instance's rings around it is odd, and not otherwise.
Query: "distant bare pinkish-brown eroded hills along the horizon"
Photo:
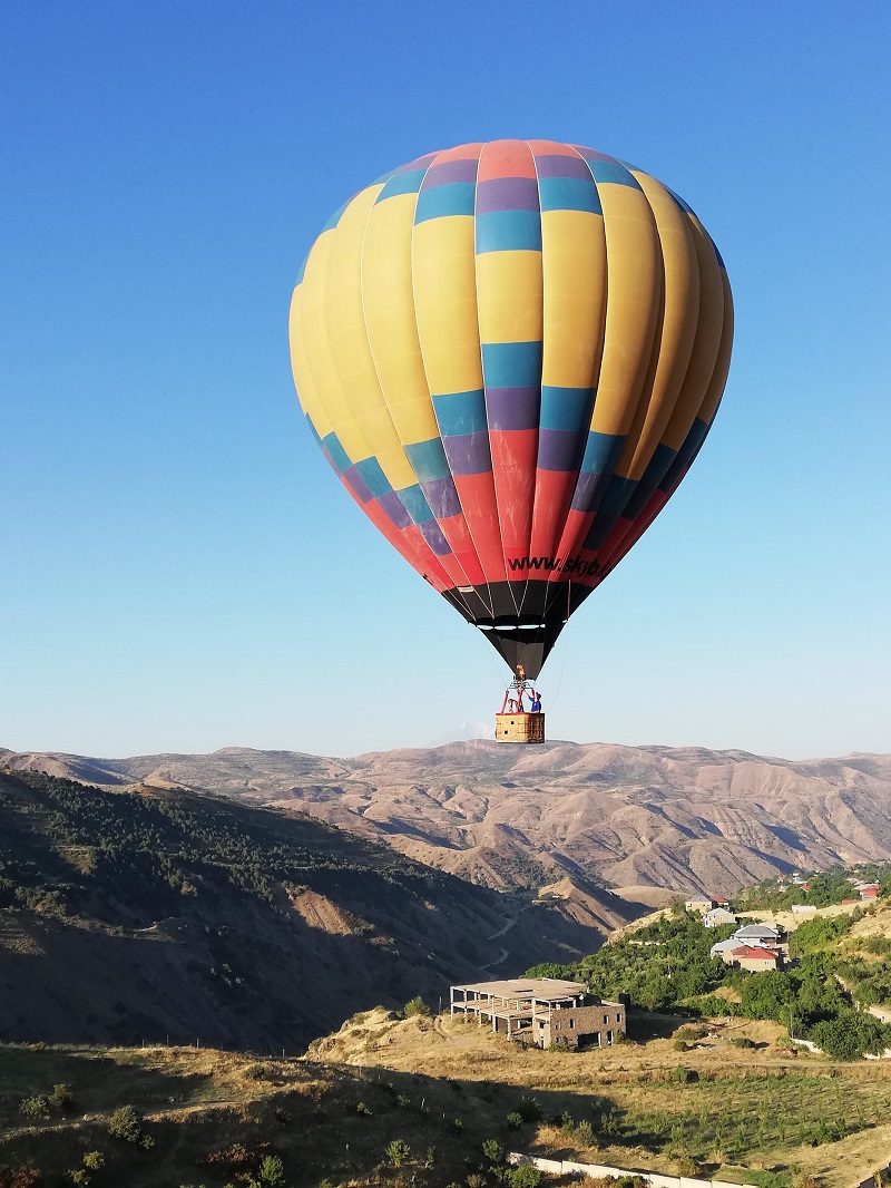
[[[777,871],[891,857],[891,756],[794,763],[700,747],[476,740],[353,759],[227,747],[5,762],[307,813],[489,886],[568,876],[567,910],[601,927],[618,922],[617,905],[598,885],[728,895]]]

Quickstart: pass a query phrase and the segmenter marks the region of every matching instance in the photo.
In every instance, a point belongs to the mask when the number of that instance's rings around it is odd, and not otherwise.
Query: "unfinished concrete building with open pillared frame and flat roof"
[[[453,986],[451,1017],[463,1015],[518,1043],[549,1048],[606,1048],[627,1028],[624,1003],[602,1001],[584,982],[560,978],[510,978]]]

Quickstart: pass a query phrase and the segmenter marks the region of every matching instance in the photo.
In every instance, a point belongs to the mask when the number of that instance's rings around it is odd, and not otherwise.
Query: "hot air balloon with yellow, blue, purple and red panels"
[[[524,688],[689,469],[732,337],[690,207],[552,140],[428,153],[360,190],[290,316],[326,457]]]

